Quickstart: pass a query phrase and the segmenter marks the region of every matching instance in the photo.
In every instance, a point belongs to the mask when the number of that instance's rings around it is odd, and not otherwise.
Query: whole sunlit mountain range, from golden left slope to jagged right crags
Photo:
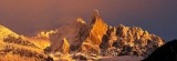
[[[124,55],[144,59],[165,44],[164,39],[139,27],[108,26],[97,10],[91,19],[87,23],[77,18],[70,24],[42,31],[35,37],[20,35],[0,26],[0,60],[80,61]]]

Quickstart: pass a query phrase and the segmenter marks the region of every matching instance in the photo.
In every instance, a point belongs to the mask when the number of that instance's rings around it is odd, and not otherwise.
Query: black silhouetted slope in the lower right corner
[[[177,61],[177,40],[162,45],[143,61]]]

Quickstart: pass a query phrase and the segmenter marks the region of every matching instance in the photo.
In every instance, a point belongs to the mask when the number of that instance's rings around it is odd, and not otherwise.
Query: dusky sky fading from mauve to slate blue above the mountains
[[[35,35],[74,21],[94,9],[107,24],[140,27],[165,40],[177,39],[177,0],[0,0],[0,24]]]

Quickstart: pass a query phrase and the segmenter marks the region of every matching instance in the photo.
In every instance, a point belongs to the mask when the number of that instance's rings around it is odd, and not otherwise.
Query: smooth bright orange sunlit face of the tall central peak
[[[100,53],[100,44],[102,43],[103,35],[106,34],[107,24],[103,22],[103,20],[100,17],[93,19],[92,21],[94,22],[92,22],[88,27],[88,35],[82,43],[81,51],[94,51],[94,53]]]

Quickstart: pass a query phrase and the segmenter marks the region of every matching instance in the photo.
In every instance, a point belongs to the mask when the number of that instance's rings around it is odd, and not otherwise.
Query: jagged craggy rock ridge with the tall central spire
[[[63,32],[64,31],[64,32]],[[56,29],[50,34],[50,50],[56,52],[63,38],[67,39],[70,51],[81,52],[87,55],[140,55],[147,57],[165,41],[139,27],[107,26],[94,10],[88,24],[79,18],[74,24]],[[59,48],[58,48],[59,47]],[[56,49],[58,48],[58,49]]]

